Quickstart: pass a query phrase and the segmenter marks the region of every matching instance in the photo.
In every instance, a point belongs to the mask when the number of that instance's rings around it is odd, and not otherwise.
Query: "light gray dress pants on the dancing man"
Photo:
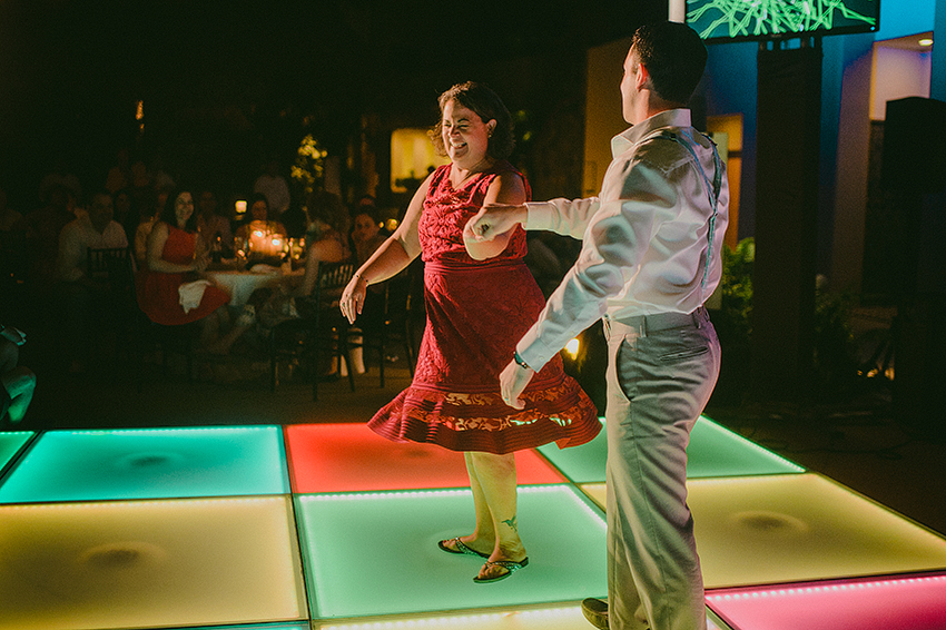
[[[614,321],[608,338],[608,598],[611,630],[704,630],[687,506],[687,445],[719,375],[704,308]]]

